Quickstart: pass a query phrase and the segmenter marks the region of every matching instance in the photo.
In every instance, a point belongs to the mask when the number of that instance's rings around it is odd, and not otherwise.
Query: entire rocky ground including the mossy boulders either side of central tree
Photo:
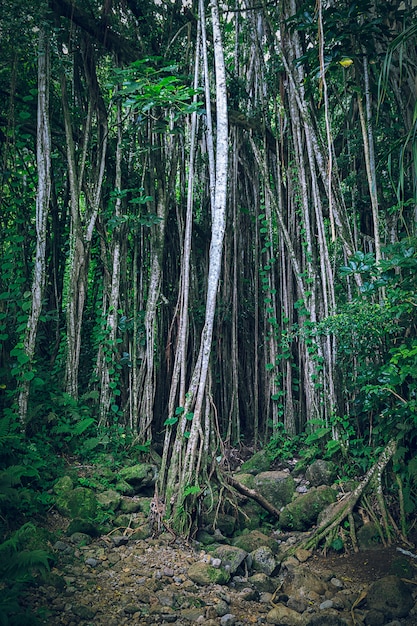
[[[163,525],[155,531],[156,466],[72,463],[47,521],[52,570],[22,603],[50,626],[417,626],[412,543],[383,547],[355,513],[359,552],[345,538],[327,555],[295,550],[329,495],[344,497],[329,469],[317,461],[302,476],[271,471],[254,455],[235,476],[280,509],[279,525],[261,527],[262,509],[243,499],[239,526],[236,515],[206,515],[187,542]],[[107,529],[87,521],[100,512]]]

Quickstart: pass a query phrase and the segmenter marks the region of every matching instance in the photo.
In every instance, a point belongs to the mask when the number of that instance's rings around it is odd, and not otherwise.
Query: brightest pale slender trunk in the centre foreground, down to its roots
[[[211,244],[209,255],[209,273],[207,282],[205,323],[200,339],[200,351],[191,376],[183,412],[177,426],[174,453],[168,471],[166,498],[170,504],[175,493],[173,506],[174,524],[178,530],[188,533],[195,499],[199,493],[199,481],[204,475],[203,452],[207,450],[205,442],[204,402],[208,402],[206,385],[212,346],[214,316],[216,311],[217,291],[220,280],[223,240],[226,226],[226,192],[228,169],[228,118],[226,96],[226,73],[223,47],[220,34],[220,22],[216,0],[211,3],[213,44],[216,73],[216,181],[212,206]],[[207,405],[206,405],[207,411]],[[190,430],[186,431],[189,424]],[[168,426],[170,427],[170,426]],[[182,457],[184,433],[188,432],[188,444]],[[207,432],[207,431],[206,431]],[[178,464],[181,464],[180,466]]]

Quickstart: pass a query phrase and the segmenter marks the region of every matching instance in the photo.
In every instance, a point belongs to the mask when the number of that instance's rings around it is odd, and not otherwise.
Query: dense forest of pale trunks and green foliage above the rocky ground
[[[343,478],[394,441],[409,530],[415,11],[2,3],[4,554],[47,566],[30,537],[55,459],[151,446],[187,532],[230,447]]]

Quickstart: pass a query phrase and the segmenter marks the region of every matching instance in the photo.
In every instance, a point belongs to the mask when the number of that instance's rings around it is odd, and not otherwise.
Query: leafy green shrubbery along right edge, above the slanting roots
[[[349,417],[330,425],[339,439],[327,453],[342,454],[351,467],[365,471],[395,437],[394,468],[405,482],[409,508],[415,506],[410,463],[417,442],[416,244],[407,238],[387,247],[379,263],[372,254],[356,252],[341,276],[359,275],[362,285],[352,302],[320,326],[337,338],[344,395],[352,407]],[[319,429],[307,443],[328,434]]]

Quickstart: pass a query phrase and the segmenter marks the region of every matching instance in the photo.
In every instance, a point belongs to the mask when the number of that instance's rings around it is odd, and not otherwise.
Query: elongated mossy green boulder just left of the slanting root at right
[[[331,487],[313,487],[298,496],[281,511],[279,523],[285,530],[304,531],[317,521],[319,513],[336,501],[336,491]]]

